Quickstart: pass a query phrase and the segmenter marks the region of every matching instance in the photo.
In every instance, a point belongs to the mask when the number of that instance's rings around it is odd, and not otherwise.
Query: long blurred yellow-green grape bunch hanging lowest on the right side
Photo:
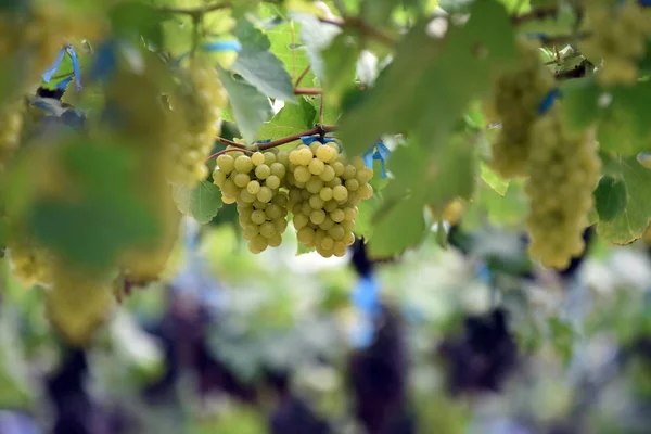
[[[566,268],[585,248],[582,234],[601,170],[593,130],[570,133],[552,108],[532,129],[527,169],[529,255],[545,266]]]

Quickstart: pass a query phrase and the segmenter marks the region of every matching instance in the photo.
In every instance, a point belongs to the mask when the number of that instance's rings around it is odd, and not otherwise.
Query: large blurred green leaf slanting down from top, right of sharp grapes
[[[426,23],[404,37],[375,87],[343,116],[347,152],[359,155],[384,133],[410,130],[423,145],[446,141],[468,104],[489,91],[492,69],[516,59],[503,5],[483,0],[470,12],[468,23],[450,25],[443,40],[426,34]]]

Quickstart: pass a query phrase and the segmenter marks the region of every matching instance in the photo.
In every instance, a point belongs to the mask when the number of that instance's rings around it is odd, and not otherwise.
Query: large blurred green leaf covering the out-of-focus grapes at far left
[[[77,142],[59,156],[79,191],[37,199],[26,219],[38,241],[73,264],[105,270],[128,247],[156,240],[159,221],[136,193],[129,152]]]

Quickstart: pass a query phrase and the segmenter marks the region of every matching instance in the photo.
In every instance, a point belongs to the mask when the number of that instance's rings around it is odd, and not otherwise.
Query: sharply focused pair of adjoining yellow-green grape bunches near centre
[[[348,164],[337,144],[319,141],[289,153],[232,151],[217,157],[213,179],[224,203],[238,203],[251,252],[279,246],[291,212],[298,242],[324,257],[345,255],[357,205],[373,194],[373,170],[361,158]]]

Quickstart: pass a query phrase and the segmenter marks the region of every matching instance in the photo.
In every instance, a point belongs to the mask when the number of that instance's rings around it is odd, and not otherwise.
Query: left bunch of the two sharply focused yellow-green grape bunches
[[[224,203],[238,203],[242,235],[248,250],[278,247],[288,227],[288,194],[281,187],[288,174],[288,153],[276,150],[246,155],[237,151],[217,157],[214,182]]]

